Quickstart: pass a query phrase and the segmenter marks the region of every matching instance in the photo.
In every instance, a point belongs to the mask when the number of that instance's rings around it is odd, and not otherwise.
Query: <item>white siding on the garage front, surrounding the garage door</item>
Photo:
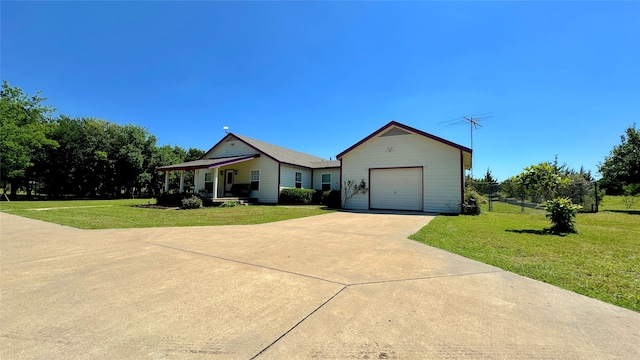
[[[460,212],[460,150],[417,134],[376,136],[342,159],[342,181],[370,184],[370,168],[423,167],[425,212]],[[345,191],[343,189],[343,197]],[[368,209],[369,194],[358,194],[348,209]]]

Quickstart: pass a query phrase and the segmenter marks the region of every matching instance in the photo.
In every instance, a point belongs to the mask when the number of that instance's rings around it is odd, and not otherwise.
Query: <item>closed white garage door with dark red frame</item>
[[[422,211],[422,168],[372,169],[372,209]]]

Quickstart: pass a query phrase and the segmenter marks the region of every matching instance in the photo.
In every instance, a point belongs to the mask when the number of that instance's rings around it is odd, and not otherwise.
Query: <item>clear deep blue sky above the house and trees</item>
[[[1,75],[59,113],[210,148],[232,132],[324,158],[391,120],[499,180],[596,171],[640,123],[640,2],[8,2]]]

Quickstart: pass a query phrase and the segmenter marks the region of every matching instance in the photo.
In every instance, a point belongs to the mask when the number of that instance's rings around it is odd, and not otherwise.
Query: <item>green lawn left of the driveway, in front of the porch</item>
[[[79,229],[263,224],[325,214],[322,206],[236,206],[195,210],[134,207],[148,199],[0,202],[0,211]],[[50,210],[36,210],[48,208]]]

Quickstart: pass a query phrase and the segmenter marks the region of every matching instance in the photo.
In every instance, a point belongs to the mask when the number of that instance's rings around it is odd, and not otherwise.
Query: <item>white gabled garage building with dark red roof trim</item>
[[[337,158],[345,209],[462,210],[469,148],[392,121]],[[363,183],[366,191],[348,185]]]

